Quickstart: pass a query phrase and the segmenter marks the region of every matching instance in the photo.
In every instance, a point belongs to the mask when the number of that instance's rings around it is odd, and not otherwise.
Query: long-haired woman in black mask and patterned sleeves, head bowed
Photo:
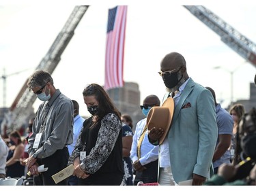
[[[119,186],[124,177],[122,122],[109,95],[98,84],[83,90],[91,117],[85,120],[68,164],[79,186]]]

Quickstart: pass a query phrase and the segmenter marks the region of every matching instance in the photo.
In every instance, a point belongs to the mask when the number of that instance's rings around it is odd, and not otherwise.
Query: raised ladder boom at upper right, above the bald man
[[[253,41],[203,6],[184,5],[184,7],[212,31],[220,35],[221,41],[227,46],[256,67],[256,44]]]

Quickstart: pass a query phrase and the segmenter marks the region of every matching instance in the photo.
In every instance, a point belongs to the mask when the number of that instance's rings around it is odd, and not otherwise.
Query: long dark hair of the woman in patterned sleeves
[[[98,101],[97,121],[102,120],[106,114],[114,113],[121,120],[120,112],[115,107],[109,94],[98,84],[89,84],[83,90],[83,96],[95,96]]]

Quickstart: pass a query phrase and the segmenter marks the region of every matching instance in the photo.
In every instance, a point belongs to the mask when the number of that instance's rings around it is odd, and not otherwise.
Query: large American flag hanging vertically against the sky
[[[127,7],[124,5],[109,9],[106,31],[105,90],[124,86],[124,41]]]

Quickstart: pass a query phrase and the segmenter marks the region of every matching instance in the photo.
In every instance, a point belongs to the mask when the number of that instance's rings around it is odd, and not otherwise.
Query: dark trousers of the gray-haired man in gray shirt
[[[39,165],[44,164],[44,168],[48,168],[48,171],[40,173],[39,177],[42,179],[42,184],[44,186],[67,186],[68,179],[60,181],[58,184],[55,184],[55,181],[52,178],[52,175],[55,175],[59,171],[68,167],[68,147],[63,147],[62,150],[57,150],[53,155],[46,158],[38,158],[37,162]],[[34,181],[34,185],[36,182]]]

